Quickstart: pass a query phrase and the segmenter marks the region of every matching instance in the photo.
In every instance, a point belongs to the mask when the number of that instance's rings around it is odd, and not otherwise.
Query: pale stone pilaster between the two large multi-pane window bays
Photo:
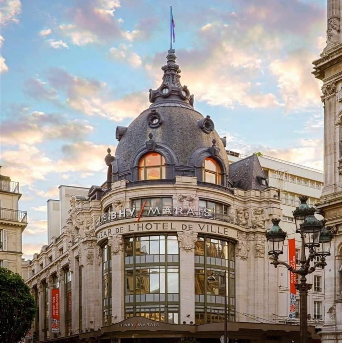
[[[180,271],[180,323],[195,322],[195,242],[197,233],[178,232]]]

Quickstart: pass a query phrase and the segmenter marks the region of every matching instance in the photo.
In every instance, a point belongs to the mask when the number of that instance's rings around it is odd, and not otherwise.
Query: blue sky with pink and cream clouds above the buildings
[[[59,185],[106,179],[117,125],[148,108],[169,48],[227,149],[323,169],[325,0],[0,0],[1,174],[20,182],[25,258]]]

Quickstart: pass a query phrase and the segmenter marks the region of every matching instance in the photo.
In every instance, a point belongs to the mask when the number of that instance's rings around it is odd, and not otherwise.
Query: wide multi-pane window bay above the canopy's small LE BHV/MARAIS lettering
[[[125,238],[125,318],[179,322],[177,236]]]

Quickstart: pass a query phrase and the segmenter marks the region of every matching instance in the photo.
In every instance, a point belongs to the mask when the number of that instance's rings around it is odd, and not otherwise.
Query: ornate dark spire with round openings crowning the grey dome
[[[187,86],[180,84],[180,69],[176,64],[175,49],[169,49],[166,56],[166,64],[162,67],[164,71],[163,83],[155,91],[150,89],[150,107],[158,106],[185,106],[193,108],[193,95],[190,95]]]

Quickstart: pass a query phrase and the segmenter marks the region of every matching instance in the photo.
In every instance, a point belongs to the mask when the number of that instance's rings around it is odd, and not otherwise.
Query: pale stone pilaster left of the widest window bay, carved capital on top
[[[113,323],[125,319],[125,271],[122,235],[108,239],[111,249],[111,316]]]

